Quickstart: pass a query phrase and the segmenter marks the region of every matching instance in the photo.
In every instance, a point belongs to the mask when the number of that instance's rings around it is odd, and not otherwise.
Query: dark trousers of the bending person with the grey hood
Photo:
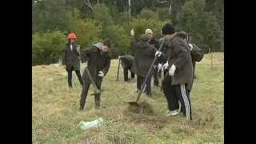
[[[98,87],[98,90],[101,90],[102,77],[97,76],[95,84]],[[84,106],[86,105],[86,97],[87,97],[89,88],[90,88],[90,83],[88,82],[87,79],[85,79],[83,81],[82,93],[80,95],[80,109],[83,109]],[[101,94],[95,94],[95,91],[94,91],[94,102],[95,102],[95,107],[96,108],[101,106]]]

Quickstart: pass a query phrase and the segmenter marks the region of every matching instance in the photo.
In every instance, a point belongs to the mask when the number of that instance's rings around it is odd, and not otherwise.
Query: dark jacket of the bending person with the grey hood
[[[83,59],[87,62],[86,69],[89,70],[94,82],[96,82],[99,71],[102,71],[104,75],[107,74],[110,69],[110,52],[102,52],[102,50],[99,50],[96,46],[90,46],[83,54],[83,57],[85,57]],[[86,80],[86,82],[91,83],[86,70],[84,70],[82,78]]]

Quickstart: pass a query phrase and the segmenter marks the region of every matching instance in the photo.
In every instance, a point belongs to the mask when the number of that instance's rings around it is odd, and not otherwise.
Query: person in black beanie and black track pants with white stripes
[[[182,114],[188,121],[192,120],[191,102],[188,84],[192,82],[193,66],[189,47],[186,41],[176,37],[174,26],[167,23],[162,27],[166,38],[168,74],[162,82],[162,89],[168,103],[169,115],[178,114],[178,101],[181,102]]]

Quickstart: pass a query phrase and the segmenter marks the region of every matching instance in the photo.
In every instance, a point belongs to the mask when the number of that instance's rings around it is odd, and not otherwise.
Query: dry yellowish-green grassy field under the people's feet
[[[95,110],[94,96],[88,95],[85,110],[79,111],[81,86],[73,74],[73,90],[67,88],[67,74],[61,66],[33,66],[33,143],[224,143],[224,54],[210,54],[197,64],[191,92],[190,124],[180,115],[166,117],[166,98],[159,87],[152,87],[153,98],[144,94],[153,115],[127,110],[126,101],[135,100],[136,81],[124,82],[122,69],[115,82],[118,61],[112,60],[102,82],[102,109]],[[89,94],[93,93],[90,86]],[[100,128],[80,130],[80,121],[102,117],[110,121]]]

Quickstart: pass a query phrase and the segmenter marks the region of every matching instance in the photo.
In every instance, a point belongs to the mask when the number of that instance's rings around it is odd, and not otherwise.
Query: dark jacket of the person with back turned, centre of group
[[[146,77],[146,74],[150,70],[150,66],[154,61],[154,54],[157,49],[151,46],[148,42],[140,42],[136,45],[134,64],[132,66],[132,71],[141,76]],[[150,75],[153,74],[153,70],[150,71]]]

